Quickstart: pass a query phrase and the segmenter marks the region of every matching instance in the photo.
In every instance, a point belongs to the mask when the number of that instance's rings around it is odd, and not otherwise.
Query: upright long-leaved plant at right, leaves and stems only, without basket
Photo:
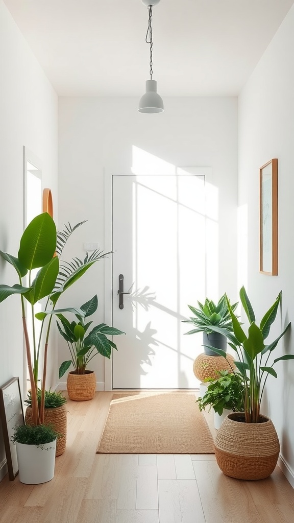
[[[244,287],[240,290],[240,299],[250,323],[247,335],[243,331],[238,318],[235,316],[227,295],[226,300],[232,319],[233,333],[225,328],[217,326],[211,326],[210,328],[213,332],[224,334],[230,340],[229,345],[235,351],[238,358],[234,361],[235,366],[242,374],[245,384],[245,390],[243,392],[245,422],[258,423],[261,401],[267,378],[268,376],[274,376],[274,378],[277,378],[277,373],[273,368],[274,365],[281,360],[294,359],[294,355],[292,354],[285,354],[284,356],[275,358],[274,361],[272,361],[271,358],[279,340],[286,334],[291,323],[288,323],[284,331],[274,340],[274,342],[265,344],[265,339],[269,335],[270,326],[276,319],[277,310],[281,301],[281,292],[274,304],[263,316],[259,326],[256,325],[255,314]],[[224,358],[227,357],[227,353],[223,350],[214,347],[209,348],[219,356],[223,356]]]

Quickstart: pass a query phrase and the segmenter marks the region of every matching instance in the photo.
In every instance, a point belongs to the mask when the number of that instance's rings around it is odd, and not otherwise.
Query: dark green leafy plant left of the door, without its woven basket
[[[91,300],[81,305],[80,309],[70,307],[68,309],[57,309],[37,314],[40,319],[48,314],[55,314],[58,317],[60,321],[60,323],[57,321],[59,332],[69,347],[71,359],[61,363],[59,378],[63,376],[71,365],[73,365],[76,374],[85,374],[86,367],[94,356],[101,354],[106,358],[110,358],[111,349],[117,350],[116,344],[108,339],[107,335],[117,336],[119,334],[125,334],[118,328],[100,323],[87,334],[93,321],[86,323],[86,318],[92,316],[97,308],[98,298],[96,294]],[[70,322],[63,313],[73,313],[76,320]]]

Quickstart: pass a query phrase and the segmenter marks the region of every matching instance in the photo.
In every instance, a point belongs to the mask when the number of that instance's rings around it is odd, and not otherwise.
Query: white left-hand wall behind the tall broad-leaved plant
[[[23,165],[25,145],[40,158],[43,186],[50,187],[57,211],[57,96],[30,51],[12,16],[0,0],[0,249],[17,256],[23,231]],[[0,260],[0,281],[17,283],[14,269]],[[24,374],[19,297],[0,304],[0,384]],[[49,362],[55,382],[56,363]],[[54,376],[54,380],[53,380]],[[0,474],[5,453],[0,435]]]

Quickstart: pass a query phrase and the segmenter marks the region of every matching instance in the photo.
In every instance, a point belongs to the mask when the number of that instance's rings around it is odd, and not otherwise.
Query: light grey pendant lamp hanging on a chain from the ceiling
[[[152,62],[152,7],[160,3],[160,0],[142,0],[142,3],[148,7],[148,29],[146,33],[145,41],[150,44],[150,80],[146,80],[146,93],[142,96],[139,102],[139,112],[163,112],[163,100],[162,97],[157,93],[157,82],[152,79],[153,74],[153,62]]]

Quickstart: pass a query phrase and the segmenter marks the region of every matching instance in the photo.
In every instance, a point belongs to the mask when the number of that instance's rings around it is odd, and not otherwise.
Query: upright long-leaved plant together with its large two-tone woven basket
[[[290,323],[274,342],[265,344],[270,326],[277,315],[281,292],[263,316],[259,326],[256,324],[255,314],[244,287],[240,290],[240,298],[250,323],[247,334],[234,315],[228,298],[226,299],[233,333],[225,328],[212,327],[215,332],[223,333],[230,339],[230,346],[238,358],[234,363],[242,374],[245,385],[244,413],[229,414],[225,418],[215,442],[216,459],[224,474],[238,479],[257,480],[272,474],[280,450],[272,420],[260,413],[265,384],[268,376],[277,378],[275,364],[281,360],[294,359],[294,355],[285,354],[272,360],[272,353],[288,331]],[[214,350],[226,357],[222,350]]]

